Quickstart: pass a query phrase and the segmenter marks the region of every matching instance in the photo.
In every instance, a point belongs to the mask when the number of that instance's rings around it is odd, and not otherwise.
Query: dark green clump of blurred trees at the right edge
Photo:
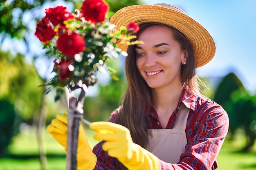
[[[234,73],[226,75],[218,84],[213,98],[229,115],[229,132],[233,139],[238,128],[245,131],[249,150],[256,139],[256,100],[249,95],[242,82]]]

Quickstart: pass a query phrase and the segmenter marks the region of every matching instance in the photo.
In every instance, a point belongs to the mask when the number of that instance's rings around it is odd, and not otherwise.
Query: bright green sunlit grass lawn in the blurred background
[[[92,136],[94,132],[85,129],[91,147],[97,144]],[[66,159],[64,148],[48,133],[44,136],[47,151],[48,170],[65,170]],[[217,157],[218,170],[255,170],[256,169],[256,145],[252,152],[238,152],[243,147],[245,138],[237,135],[235,140],[225,140],[220,154]],[[11,155],[0,158],[0,170],[40,170],[39,150],[37,146],[36,131],[23,130],[14,138],[9,148]]]

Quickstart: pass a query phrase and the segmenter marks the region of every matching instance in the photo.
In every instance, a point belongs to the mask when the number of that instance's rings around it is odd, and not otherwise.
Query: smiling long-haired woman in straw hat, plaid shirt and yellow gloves
[[[130,21],[144,44],[119,44],[128,53],[126,94],[110,122],[90,125],[102,140],[93,152],[80,128],[78,169],[216,169],[228,117],[201,95],[195,74],[215,54],[211,35],[170,4],[125,7],[110,20],[117,28]],[[48,126],[64,147],[66,124],[61,114]]]

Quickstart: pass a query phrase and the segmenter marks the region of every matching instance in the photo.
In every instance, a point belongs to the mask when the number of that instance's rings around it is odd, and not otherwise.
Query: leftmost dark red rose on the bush
[[[35,35],[41,42],[47,42],[52,40],[54,35],[56,35],[56,32],[49,21],[44,17],[36,24]]]

